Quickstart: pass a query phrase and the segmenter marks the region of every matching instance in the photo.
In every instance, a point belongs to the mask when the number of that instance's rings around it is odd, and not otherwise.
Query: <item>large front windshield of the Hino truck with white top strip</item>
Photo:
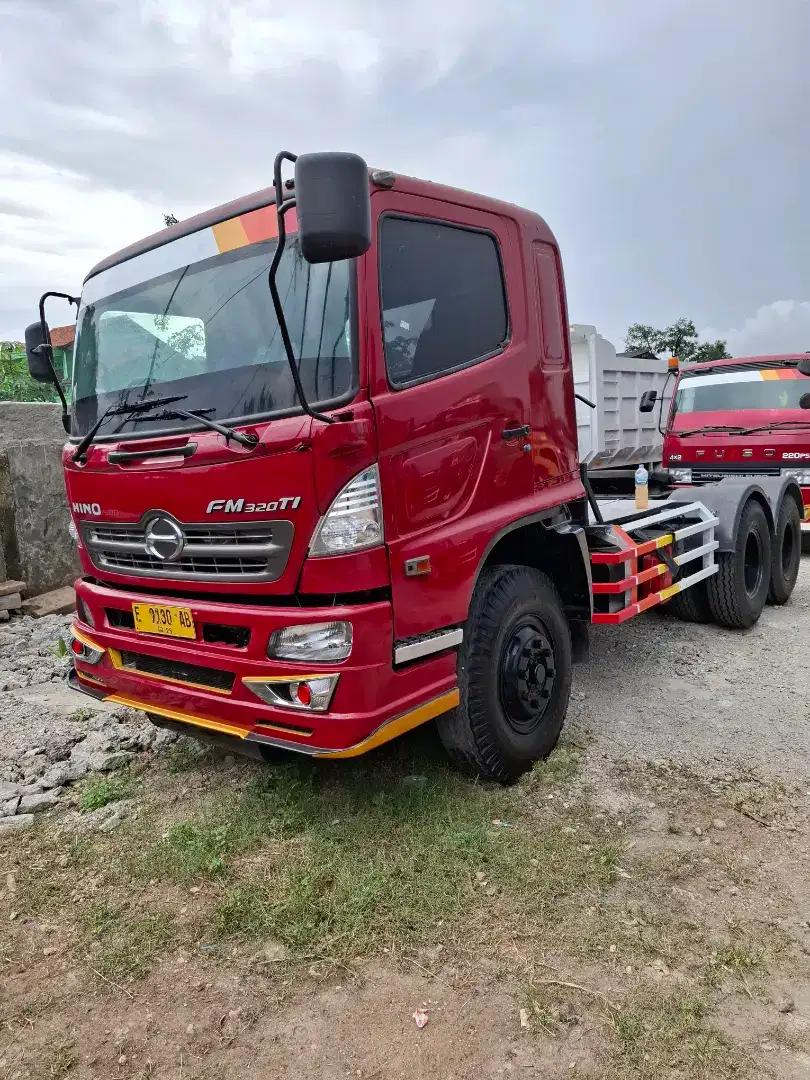
[[[73,364],[73,435],[84,434],[110,406],[150,397],[176,395],[178,407],[220,422],[298,406],[268,287],[276,241],[184,262],[204,256],[205,234],[180,238],[87,282]],[[143,276],[158,270],[163,272]],[[355,386],[352,272],[350,262],[306,262],[296,237],[287,241],[279,267],[305,392],[322,407]],[[191,423],[159,408],[116,416],[100,435]]]

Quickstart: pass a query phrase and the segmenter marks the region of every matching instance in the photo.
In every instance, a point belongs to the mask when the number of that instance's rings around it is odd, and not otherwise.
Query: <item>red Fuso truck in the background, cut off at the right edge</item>
[[[675,483],[726,476],[793,475],[801,487],[800,528],[810,540],[810,414],[802,407],[808,355],[737,356],[684,367],[664,435],[663,464]],[[800,541],[798,531],[796,543]]]

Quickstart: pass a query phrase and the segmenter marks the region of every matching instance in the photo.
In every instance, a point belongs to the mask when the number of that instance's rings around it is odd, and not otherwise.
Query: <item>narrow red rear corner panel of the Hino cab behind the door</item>
[[[529,368],[529,422],[535,487],[539,490],[575,477],[579,450],[570,407],[573,373],[559,254],[552,244],[535,241],[531,261],[539,355]]]

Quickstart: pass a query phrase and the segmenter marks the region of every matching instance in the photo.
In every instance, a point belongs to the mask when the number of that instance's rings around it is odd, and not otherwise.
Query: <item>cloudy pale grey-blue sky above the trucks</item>
[[[0,339],[283,148],[537,211],[617,346],[810,350],[809,56],[807,0],[0,0]]]

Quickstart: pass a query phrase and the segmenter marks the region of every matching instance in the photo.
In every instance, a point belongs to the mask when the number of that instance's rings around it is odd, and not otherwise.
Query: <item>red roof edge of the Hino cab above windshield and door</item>
[[[376,175],[379,176],[380,174]],[[530,234],[534,233],[532,239],[544,240],[556,245],[549,226],[539,214],[535,214],[532,211],[524,210],[512,203],[502,202],[499,199],[490,199],[487,195],[462,191],[459,188],[446,187],[442,184],[432,184],[430,180],[419,180],[410,176],[387,173],[384,184],[376,184],[374,176],[375,170],[369,170],[372,193],[392,188],[394,191],[404,192],[416,198],[432,199],[451,203],[456,206],[464,206],[469,210],[478,210],[482,213],[509,217],[517,221],[524,231]],[[393,183],[391,183],[391,177],[393,177]],[[292,190],[285,191],[286,197],[292,193]],[[122,247],[121,251],[116,252],[113,255],[108,255],[93,267],[84,281],[89,281],[104,270],[109,270],[110,267],[118,266],[119,262],[125,262],[127,259],[135,258],[136,255],[143,255],[144,252],[170,244],[173,240],[177,240],[180,237],[189,235],[192,232],[198,232],[200,229],[207,229],[211,226],[219,225],[220,221],[227,221],[232,217],[239,217],[242,214],[248,214],[252,211],[261,210],[264,206],[273,206],[274,204],[275,188],[269,187],[262,188],[260,191],[254,191],[248,195],[242,195],[240,199],[233,199],[231,202],[222,203],[213,210],[203,211],[201,214],[188,217],[184,221],[178,221],[177,225],[171,225],[168,228],[160,229],[158,232],[153,232],[143,240],[137,240],[134,244],[130,244],[129,247]]]

